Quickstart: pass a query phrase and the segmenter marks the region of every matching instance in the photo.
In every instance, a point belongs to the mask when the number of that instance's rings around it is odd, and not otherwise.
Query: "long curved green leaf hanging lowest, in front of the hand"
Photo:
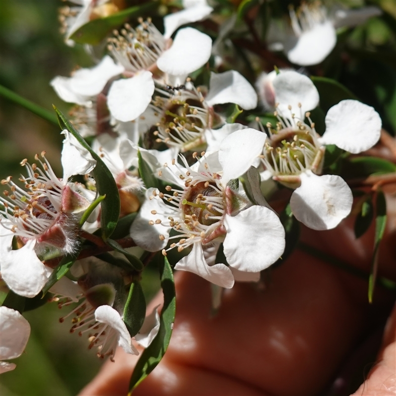
[[[161,287],[164,294],[164,305],[160,315],[159,331],[152,343],[142,353],[129,384],[132,391],[148,376],[148,374],[161,361],[168,348],[172,335],[173,323],[176,312],[175,281],[173,279],[172,268],[166,257],[160,263]]]

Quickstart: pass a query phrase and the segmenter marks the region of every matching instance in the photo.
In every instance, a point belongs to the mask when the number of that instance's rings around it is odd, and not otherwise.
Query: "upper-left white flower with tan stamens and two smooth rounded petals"
[[[166,73],[167,82],[182,84],[188,74],[209,60],[211,47],[210,37],[193,28],[180,29],[172,43],[150,20],[142,21],[136,29],[126,25],[109,39],[108,49],[124,66],[125,74],[131,76],[111,85],[108,93],[111,114],[119,121],[136,119],[151,101],[153,78]]]

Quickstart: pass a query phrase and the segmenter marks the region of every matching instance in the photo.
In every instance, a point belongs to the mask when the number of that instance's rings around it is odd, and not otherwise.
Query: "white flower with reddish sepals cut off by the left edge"
[[[95,198],[79,183],[70,183],[72,175],[87,174],[96,161],[66,130],[63,142],[63,178],[54,174],[45,152],[32,165],[24,159],[21,164],[27,176],[20,181],[24,188],[10,177],[1,181],[8,185],[1,197],[1,277],[15,293],[24,297],[36,296],[49,276],[48,268],[39,256],[52,250],[70,253],[76,248],[77,222]],[[12,249],[13,238],[19,249]]]

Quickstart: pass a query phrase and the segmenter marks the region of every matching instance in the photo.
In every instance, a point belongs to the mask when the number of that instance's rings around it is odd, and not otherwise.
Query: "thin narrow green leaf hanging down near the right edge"
[[[387,204],[385,196],[382,191],[377,192],[376,199],[376,214],[375,214],[375,238],[374,238],[374,252],[371,260],[371,270],[368,279],[368,301],[373,302],[374,287],[377,278],[378,269],[378,251],[380,243],[385,233],[385,226],[387,224]]]

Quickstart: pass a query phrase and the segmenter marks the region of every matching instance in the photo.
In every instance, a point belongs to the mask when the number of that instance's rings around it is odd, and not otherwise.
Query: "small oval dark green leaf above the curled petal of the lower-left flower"
[[[123,320],[129,334],[138,334],[146,318],[146,299],[140,282],[134,281],[129,289],[129,295],[124,307]]]

